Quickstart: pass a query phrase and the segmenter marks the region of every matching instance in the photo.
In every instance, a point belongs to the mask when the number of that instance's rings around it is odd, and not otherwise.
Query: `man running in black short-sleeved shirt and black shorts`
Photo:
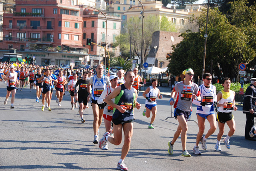
[[[78,94],[78,103],[79,103],[79,114],[81,117],[81,123],[84,123],[84,109],[86,108],[86,105],[88,103],[88,100],[90,98],[90,93],[88,93],[88,86],[90,80],[87,80],[88,72],[84,72],[83,77],[76,82],[75,86],[75,93],[76,96]],[[79,86],[77,88],[77,86]],[[78,89],[78,93],[77,93]]]

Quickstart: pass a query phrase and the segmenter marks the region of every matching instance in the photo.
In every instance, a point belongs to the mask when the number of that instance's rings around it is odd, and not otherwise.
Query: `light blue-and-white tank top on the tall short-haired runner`
[[[105,80],[105,75],[102,76],[102,79],[100,81],[97,80],[97,75],[93,76],[93,92],[92,92],[92,99],[93,100],[98,100],[102,92],[104,91],[105,88],[107,88],[106,80]]]

